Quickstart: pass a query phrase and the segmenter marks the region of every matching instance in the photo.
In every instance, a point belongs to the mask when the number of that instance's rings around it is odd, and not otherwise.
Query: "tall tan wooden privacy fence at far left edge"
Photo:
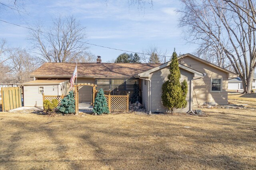
[[[22,107],[20,87],[2,87],[1,95],[3,111]]]

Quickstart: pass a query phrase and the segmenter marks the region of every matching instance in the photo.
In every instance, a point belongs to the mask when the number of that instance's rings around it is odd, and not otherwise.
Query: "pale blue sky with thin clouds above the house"
[[[9,0],[0,2],[10,5]],[[58,16],[73,15],[86,26],[88,43],[135,52],[153,45],[167,50],[167,55],[174,47],[177,53],[193,53],[196,49],[195,45],[186,44],[177,26],[178,0],[154,0],[153,6],[146,4],[142,10],[129,5],[128,0],[24,0],[24,4],[29,15],[5,8],[1,9],[0,19],[23,26],[40,21],[47,27]],[[2,38],[10,47],[31,49],[28,29],[0,22]],[[90,46],[90,51],[100,55],[103,62],[123,53],[95,46]]]

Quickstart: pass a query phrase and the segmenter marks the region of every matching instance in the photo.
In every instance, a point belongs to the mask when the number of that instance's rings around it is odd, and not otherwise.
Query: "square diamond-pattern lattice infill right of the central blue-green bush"
[[[126,111],[127,97],[126,96],[111,96],[111,111]]]

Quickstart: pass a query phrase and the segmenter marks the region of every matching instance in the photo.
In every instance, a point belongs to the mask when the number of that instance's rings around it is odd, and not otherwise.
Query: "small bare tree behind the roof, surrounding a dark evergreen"
[[[149,63],[150,57],[152,57],[152,54],[156,55],[159,58],[160,63],[164,63],[165,59],[166,61],[169,61],[170,59],[165,58],[167,50],[162,51],[158,47],[151,45],[147,49],[142,49],[143,54],[140,54],[140,60],[142,63]]]

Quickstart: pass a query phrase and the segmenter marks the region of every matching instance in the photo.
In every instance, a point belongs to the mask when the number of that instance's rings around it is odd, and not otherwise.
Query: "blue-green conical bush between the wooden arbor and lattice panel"
[[[106,97],[104,96],[104,92],[102,88],[97,92],[92,111],[97,115],[101,115],[103,113],[107,113],[107,114],[109,113],[108,103],[107,103]]]

